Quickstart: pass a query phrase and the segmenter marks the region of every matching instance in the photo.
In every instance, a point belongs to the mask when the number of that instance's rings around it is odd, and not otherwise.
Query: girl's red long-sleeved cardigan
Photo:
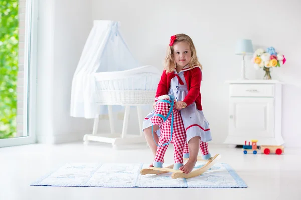
[[[184,98],[184,102],[189,106],[193,102],[196,102],[197,109],[202,110],[201,105],[201,80],[202,80],[202,71],[198,66],[194,68],[185,68],[182,69],[184,71],[184,77],[187,84],[188,94]],[[159,81],[156,98],[162,95],[168,94],[168,90],[170,88],[171,79],[175,77],[175,74],[168,73],[166,74],[166,70],[163,70],[161,79]]]

